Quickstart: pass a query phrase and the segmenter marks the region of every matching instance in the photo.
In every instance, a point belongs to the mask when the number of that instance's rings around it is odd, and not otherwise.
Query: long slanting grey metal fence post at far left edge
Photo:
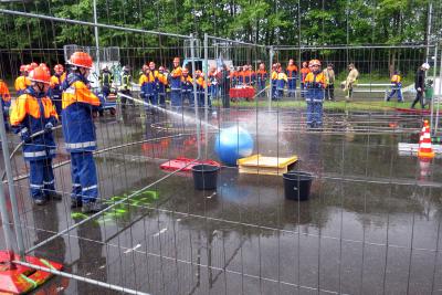
[[[15,229],[17,245],[19,247],[20,259],[24,260],[23,232],[21,230],[21,222],[20,222],[20,215],[19,215],[19,209],[18,209],[19,207],[17,204],[15,188],[14,188],[14,183],[13,183],[12,168],[11,168],[11,161],[10,161],[9,148],[8,148],[8,136],[7,136],[7,130],[4,128],[3,109],[1,109],[1,115],[0,115],[0,138],[1,138],[1,148],[3,151],[4,170],[7,172],[7,179],[8,179],[9,196],[11,198],[12,218],[13,218],[13,223],[14,223],[14,229]],[[3,187],[3,185],[1,186],[0,189],[3,191],[2,187]],[[6,210],[6,207],[4,207],[4,210]],[[2,215],[4,215],[3,212],[2,212]],[[3,225],[8,226],[8,224],[4,224],[4,223],[3,223]]]

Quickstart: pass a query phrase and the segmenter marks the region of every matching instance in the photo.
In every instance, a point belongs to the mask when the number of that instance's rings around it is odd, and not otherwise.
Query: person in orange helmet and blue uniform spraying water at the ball
[[[93,213],[103,209],[96,202],[98,180],[93,157],[97,147],[93,113],[101,103],[87,81],[93,69],[91,55],[74,52],[69,64],[71,73],[63,82],[62,122],[65,147],[71,152],[71,208],[83,207],[84,213]]]

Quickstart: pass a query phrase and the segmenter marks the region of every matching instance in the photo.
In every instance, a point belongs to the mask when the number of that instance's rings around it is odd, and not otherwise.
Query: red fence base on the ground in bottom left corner
[[[15,268],[11,270],[8,263],[9,256],[9,252],[0,251],[0,294],[24,294],[39,287],[53,276],[51,273],[19,264],[15,264]],[[19,261],[20,256],[14,255],[13,260]],[[41,267],[57,271],[63,268],[60,263],[34,256],[25,256],[25,261]]]

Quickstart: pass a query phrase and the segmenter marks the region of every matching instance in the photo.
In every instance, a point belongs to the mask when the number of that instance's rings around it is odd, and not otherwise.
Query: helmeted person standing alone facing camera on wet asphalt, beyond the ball
[[[312,60],[308,63],[309,73],[304,80],[305,101],[307,102],[307,126],[318,128],[323,126],[323,102],[325,75],[320,71],[320,62]]]

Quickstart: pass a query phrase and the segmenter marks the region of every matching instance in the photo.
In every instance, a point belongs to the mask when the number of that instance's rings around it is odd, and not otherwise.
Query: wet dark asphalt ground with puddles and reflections
[[[167,176],[159,169],[166,159],[197,156],[196,126],[180,123],[133,110],[122,122],[97,123],[99,147],[114,147],[96,156],[108,203]],[[400,157],[397,147],[419,130],[419,118],[336,113],[318,133],[301,127],[298,112],[232,109],[211,124],[202,139],[208,158],[217,159],[218,127],[240,124],[254,137],[255,152],[298,155],[295,169],[315,175],[311,199],[285,200],[281,177],[224,167],[217,191],[196,191],[191,176],[180,172],[32,254],[63,262],[69,273],[150,294],[441,292],[441,162],[422,172],[419,160]],[[69,158],[60,150],[60,161]],[[27,171],[20,155],[13,166],[17,175]],[[64,200],[46,207],[32,207],[28,179],[18,182],[27,247],[86,218],[69,207],[69,169],[55,170]],[[116,293],[66,278],[43,289],[52,288]]]

